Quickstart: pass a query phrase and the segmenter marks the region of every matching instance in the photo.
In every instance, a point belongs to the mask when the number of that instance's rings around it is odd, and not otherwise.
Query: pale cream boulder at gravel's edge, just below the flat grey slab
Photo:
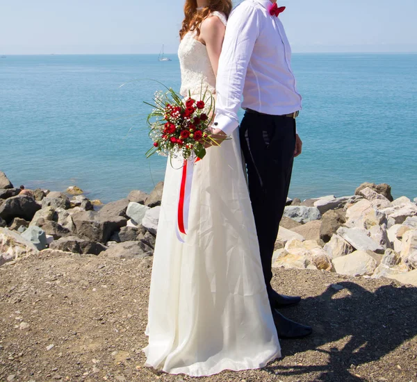
[[[334,258],[332,262],[336,272],[346,276],[370,276],[377,267],[375,259],[365,251],[354,251],[352,254]]]

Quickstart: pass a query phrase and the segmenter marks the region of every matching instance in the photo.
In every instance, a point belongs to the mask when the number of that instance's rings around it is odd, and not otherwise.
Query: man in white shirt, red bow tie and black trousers
[[[279,338],[302,338],[311,327],[287,319],[277,308],[298,304],[300,297],[272,289],[272,254],[291,181],[293,159],[302,142],[295,128],[301,96],[291,70],[291,47],[276,0],[244,0],[231,13],[217,75],[213,138],[220,142],[240,125],[250,199],[261,251],[268,297]],[[241,101],[243,97],[243,102]]]

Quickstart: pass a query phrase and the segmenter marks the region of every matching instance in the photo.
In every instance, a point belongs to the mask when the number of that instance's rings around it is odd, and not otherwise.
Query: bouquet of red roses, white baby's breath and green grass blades
[[[214,115],[211,92],[206,90],[199,99],[193,99],[190,93],[188,97],[182,97],[167,88],[167,92],[154,94],[154,103],[145,103],[153,108],[147,124],[154,146],[147,151],[147,158],[154,153],[183,160],[204,158],[204,144],[214,142],[208,128]]]

